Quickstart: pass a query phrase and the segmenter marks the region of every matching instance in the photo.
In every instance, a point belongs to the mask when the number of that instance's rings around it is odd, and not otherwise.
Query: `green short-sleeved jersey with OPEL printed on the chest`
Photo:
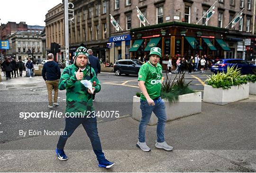
[[[148,61],[139,69],[138,81],[145,81],[146,91],[151,99],[160,96],[162,75],[162,66],[159,63],[154,66]],[[140,98],[146,100],[142,93]]]

